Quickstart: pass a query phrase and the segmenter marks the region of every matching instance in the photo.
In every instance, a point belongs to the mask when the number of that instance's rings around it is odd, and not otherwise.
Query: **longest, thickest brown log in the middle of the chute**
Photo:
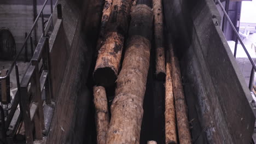
[[[151,8],[137,5],[131,14],[129,39],[111,106],[112,117],[106,143],[139,143],[152,22]]]

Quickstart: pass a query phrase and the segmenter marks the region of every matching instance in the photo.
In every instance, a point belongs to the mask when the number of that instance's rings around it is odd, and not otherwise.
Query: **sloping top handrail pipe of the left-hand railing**
[[[12,71],[13,68],[14,68],[14,65],[15,65],[16,61],[18,60],[18,58],[19,58],[21,52],[23,51],[23,49],[24,49],[24,47],[25,47],[25,45],[26,45],[26,41],[28,40],[28,38],[30,38],[31,33],[32,33],[34,27],[36,27],[37,21],[38,21],[38,19],[39,19],[39,17],[40,17],[40,14],[43,12],[44,7],[45,7],[45,5],[46,5],[47,2],[48,2],[48,0],[45,0],[45,2],[44,2],[44,4],[43,4],[43,7],[42,7],[42,9],[40,10],[39,14],[37,15],[37,18],[36,18],[36,20],[34,21],[33,26],[32,26],[32,28],[31,28],[30,32],[28,33],[28,35],[27,35],[27,37],[26,37],[24,43],[22,44],[21,50],[19,51],[18,55],[15,56],[13,63],[11,63],[11,66],[10,66],[10,68],[9,68],[9,70],[8,70],[8,73],[7,73],[5,76],[0,76],[0,80],[6,79],[6,78],[10,75],[11,71]]]

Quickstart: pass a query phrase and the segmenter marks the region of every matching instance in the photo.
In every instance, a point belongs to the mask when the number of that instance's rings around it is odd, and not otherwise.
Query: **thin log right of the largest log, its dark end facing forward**
[[[165,70],[165,47],[164,47],[164,31],[163,31],[163,15],[162,15],[162,1],[153,0],[154,13],[154,33],[155,33],[155,70],[156,79],[164,81],[166,76]]]

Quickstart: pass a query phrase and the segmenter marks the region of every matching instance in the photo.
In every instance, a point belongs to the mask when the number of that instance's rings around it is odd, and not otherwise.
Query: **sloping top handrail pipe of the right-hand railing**
[[[230,25],[231,25],[233,31],[235,32],[237,39],[240,41],[240,44],[242,45],[243,50],[245,50],[246,55],[247,55],[247,57],[249,58],[249,61],[250,61],[251,64],[253,65],[253,69],[256,70],[256,65],[255,65],[255,63],[253,62],[253,59],[252,59],[252,57],[250,56],[249,52],[247,51],[247,49],[246,49],[246,47],[245,47],[245,44],[243,44],[243,41],[242,41],[242,39],[240,38],[238,32],[236,31],[235,26],[233,25],[232,21],[230,20],[229,15],[226,13],[226,11],[225,11],[225,9],[224,9],[222,3],[221,3],[219,0],[217,0],[217,1],[218,1],[218,3],[219,3],[220,8],[222,8],[222,11],[223,11],[224,15],[226,16],[226,19],[229,21],[229,23],[230,23]]]

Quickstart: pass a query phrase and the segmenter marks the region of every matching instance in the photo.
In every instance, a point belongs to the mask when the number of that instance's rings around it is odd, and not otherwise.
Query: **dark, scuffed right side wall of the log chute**
[[[176,36],[193,143],[249,143],[252,97],[220,29],[216,5],[211,0],[174,3],[164,1],[165,18]]]

